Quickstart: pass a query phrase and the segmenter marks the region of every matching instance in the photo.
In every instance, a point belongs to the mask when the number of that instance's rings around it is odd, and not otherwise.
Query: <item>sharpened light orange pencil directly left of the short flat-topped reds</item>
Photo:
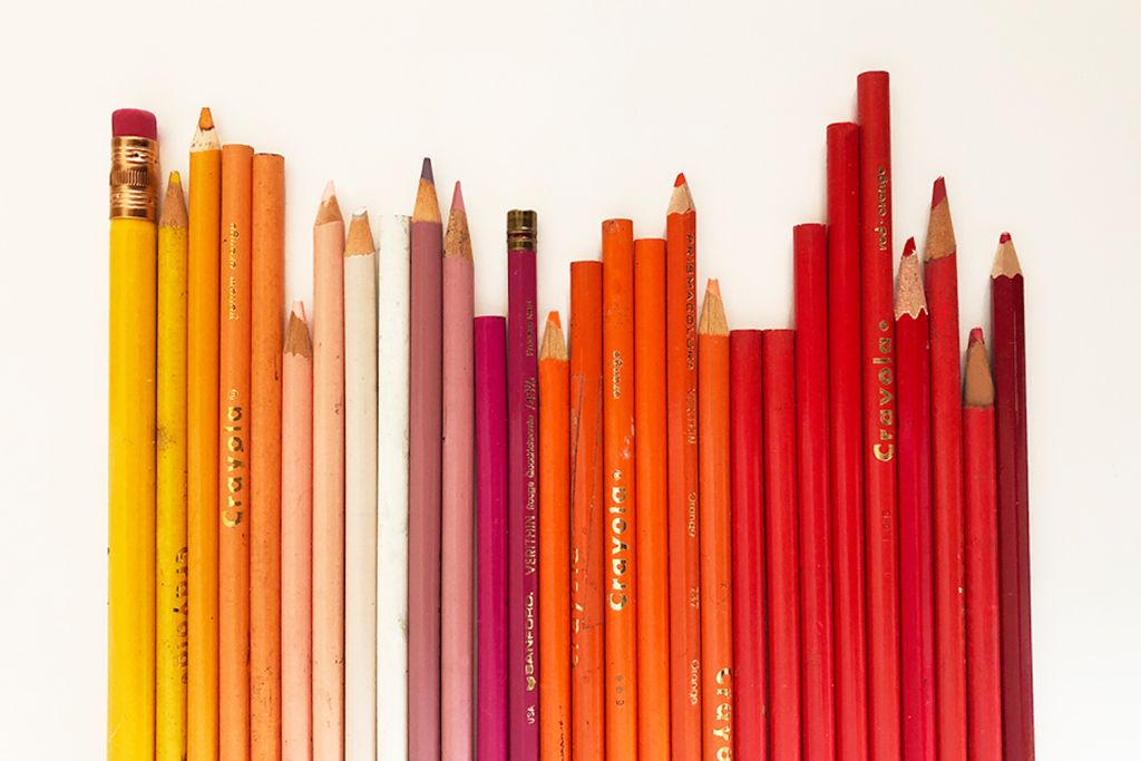
[[[729,325],[715,280],[697,323],[702,536],[702,756],[733,758],[733,481],[729,469]]]

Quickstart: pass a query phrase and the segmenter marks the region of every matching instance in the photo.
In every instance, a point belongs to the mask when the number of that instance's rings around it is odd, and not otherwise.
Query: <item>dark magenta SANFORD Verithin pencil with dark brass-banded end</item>
[[[533,211],[507,214],[508,712],[512,761],[539,758],[539,324]]]

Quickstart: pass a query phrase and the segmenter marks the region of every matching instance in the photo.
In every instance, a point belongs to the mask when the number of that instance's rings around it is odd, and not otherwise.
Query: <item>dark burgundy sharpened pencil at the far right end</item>
[[[1034,759],[1030,643],[1030,503],[1026,461],[1026,305],[1022,267],[1009,233],[990,270],[995,453],[998,468],[998,593],[1002,735],[1008,761]]]

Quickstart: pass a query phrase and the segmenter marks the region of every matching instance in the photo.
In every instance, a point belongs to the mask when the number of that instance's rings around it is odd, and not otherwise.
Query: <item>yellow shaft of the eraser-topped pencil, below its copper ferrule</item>
[[[155,225],[111,222],[107,759],[154,758]]]

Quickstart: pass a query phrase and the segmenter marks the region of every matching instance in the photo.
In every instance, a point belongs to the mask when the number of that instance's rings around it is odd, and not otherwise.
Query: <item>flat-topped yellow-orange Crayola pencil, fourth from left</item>
[[[250,755],[250,327],[253,148],[221,151],[218,710],[222,761]],[[192,602],[193,605],[193,602]]]

